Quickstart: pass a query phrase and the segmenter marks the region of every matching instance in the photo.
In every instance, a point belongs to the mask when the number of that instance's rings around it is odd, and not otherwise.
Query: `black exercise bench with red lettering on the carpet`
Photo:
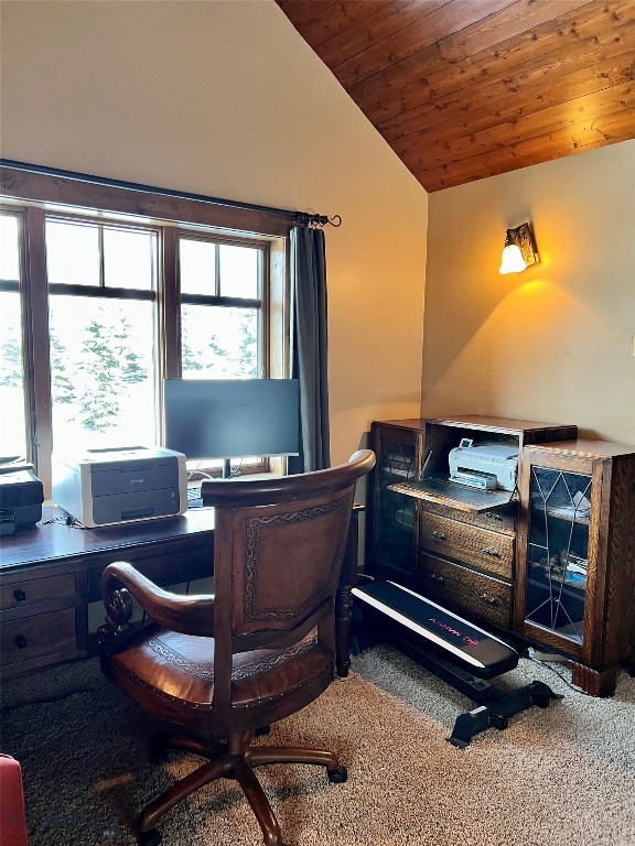
[[[463,749],[474,735],[486,728],[504,729],[508,718],[532,705],[546,708],[561,699],[542,682],[515,691],[502,691],[486,680],[518,664],[519,655],[508,643],[396,582],[368,582],[353,588],[353,595],[395,626],[412,632],[416,648],[408,649],[443,681],[480,704],[460,714],[448,740]],[[412,639],[410,638],[410,643]]]

